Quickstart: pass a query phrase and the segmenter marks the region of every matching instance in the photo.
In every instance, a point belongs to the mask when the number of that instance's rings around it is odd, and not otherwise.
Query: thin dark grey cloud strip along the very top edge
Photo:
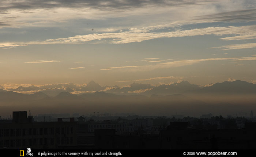
[[[202,1],[203,2],[203,1]],[[8,0],[0,3],[1,11],[8,11],[9,9],[37,9],[37,8],[95,8],[95,9],[128,9],[128,8],[140,8],[147,5],[191,5],[197,4],[187,0]]]

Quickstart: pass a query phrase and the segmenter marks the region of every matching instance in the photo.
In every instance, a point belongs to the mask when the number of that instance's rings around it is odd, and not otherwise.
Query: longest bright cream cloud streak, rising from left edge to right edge
[[[105,40],[110,44],[127,44],[133,42],[142,42],[145,40],[157,39],[157,38],[170,38],[170,37],[186,37],[186,36],[202,36],[202,35],[239,35],[244,36],[248,34],[256,34],[256,25],[248,25],[241,27],[207,27],[207,28],[196,28],[189,30],[178,29],[176,31],[170,32],[159,32],[160,28],[168,28],[167,26],[157,25],[155,27],[139,27],[134,32],[135,28],[130,28],[127,31],[117,32],[117,33],[93,33],[88,35],[77,35],[66,38],[59,39],[47,39],[44,41],[30,41],[26,43],[0,43],[4,45],[2,47],[16,47],[16,46],[25,46],[25,45],[34,45],[34,44],[82,44],[88,41],[99,41]],[[156,30],[154,32],[154,30]],[[222,38],[224,39],[224,38]],[[255,47],[256,43],[247,43],[240,45],[226,45],[223,47],[214,47],[214,48],[225,48],[227,49],[238,49],[238,48],[251,48]],[[155,60],[159,58],[150,58],[143,60]]]

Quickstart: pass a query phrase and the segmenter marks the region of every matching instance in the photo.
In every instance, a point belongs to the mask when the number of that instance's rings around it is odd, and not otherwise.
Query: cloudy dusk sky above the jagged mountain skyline
[[[255,0],[1,0],[0,84],[256,83]]]

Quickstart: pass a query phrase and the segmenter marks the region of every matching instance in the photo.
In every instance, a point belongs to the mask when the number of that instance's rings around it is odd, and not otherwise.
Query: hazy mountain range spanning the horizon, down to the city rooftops
[[[193,85],[188,81],[159,86],[132,83],[130,86],[122,88],[102,87],[95,82],[90,82],[90,86],[78,86],[72,83],[57,85],[59,88],[53,88],[59,89],[53,90],[57,94],[55,96],[44,93],[46,90],[26,94],[2,89],[0,91],[0,114],[14,110],[32,109],[34,113],[38,114],[49,112],[131,112],[142,115],[172,115],[179,112],[198,116],[202,113],[225,115],[241,110],[244,112],[256,110],[256,85],[240,80],[225,81],[206,87]],[[49,87],[53,87],[53,85],[45,86],[50,93]],[[78,88],[82,89],[86,86],[87,90],[101,90],[77,94],[60,90],[70,88],[73,89],[72,91],[76,91]],[[20,89],[22,88],[19,87]]]

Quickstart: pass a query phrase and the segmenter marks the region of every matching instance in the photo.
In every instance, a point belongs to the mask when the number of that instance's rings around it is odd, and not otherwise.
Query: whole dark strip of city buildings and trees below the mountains
[[[34,122],[26,111],[13,112],[12,117],[0,120],[0,149],[256,149],[253,118],[94,121],[80,116],[78,121],[64,117]]]

